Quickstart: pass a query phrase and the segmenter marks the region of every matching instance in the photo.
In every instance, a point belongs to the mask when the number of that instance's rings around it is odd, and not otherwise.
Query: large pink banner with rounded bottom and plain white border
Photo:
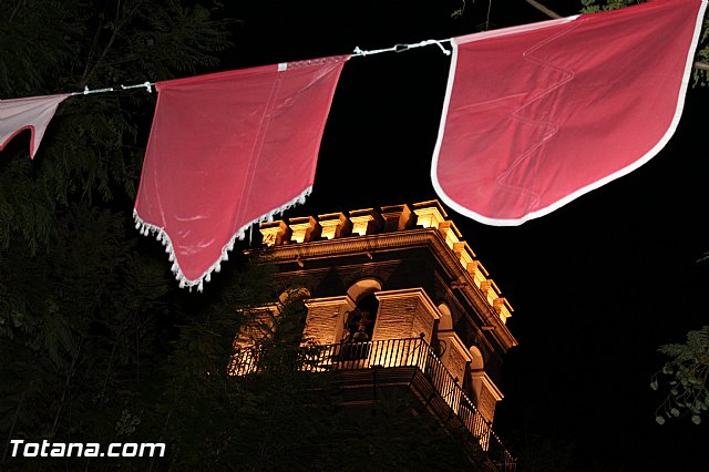
[[[431,177],[518,225],[639,167],[677,127],[706,3],[664,0],[455,38]]]

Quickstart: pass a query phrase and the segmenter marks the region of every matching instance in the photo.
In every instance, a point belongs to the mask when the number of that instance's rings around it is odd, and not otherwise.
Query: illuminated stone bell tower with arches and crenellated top
[[[503,355],[516,345],[512,307],[438,201],[276,220],[260,233],[277,277],[302,280],[302,339],[322,348],[316,369],[411,372],[405,388],[427,411],[463,425],[497,469],[514,468],[492,430]],[[234,373],[255,372],[248,337],[236,343]],[[351,402],[372,401],[371,374],[359,382],[348,384]]]

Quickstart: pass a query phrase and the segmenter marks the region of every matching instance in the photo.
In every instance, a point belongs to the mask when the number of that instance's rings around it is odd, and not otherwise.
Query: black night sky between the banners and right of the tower
[[[250,2],[226,68],[446,39],[485,22],[487,1]],[[284,4],[286,3],[286,4]],[[307,4],[305,4],[307,3]],[[580,2],[547,2],[564,16]],[[495,28],[543,21],[524,1],[494,0]],[[449,58],[436,47],[353,58],[326,127],[314,195],[285,216],[435,198],[429,166]],[[511,71],[514,73],[514,71]],[[668,146],[626,177],[520,227],[450,211],[513,308],[496,430],[576,443],[579,468],[707,470],[708,425],[658,427],[648,387],[661,343],[707,324],[709,162],[700,132],[709,90],[690,90]],[[703,464],[700,465],[700,464]],[[608,470],[608,469],[603,469]]]

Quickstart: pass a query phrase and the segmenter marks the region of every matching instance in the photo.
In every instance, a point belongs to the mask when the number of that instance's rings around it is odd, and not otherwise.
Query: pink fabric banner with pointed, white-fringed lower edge
[[[202,289],[249,225],[305,201],[347,59],[156,84],[134,216],[166,246],[181,286]]]

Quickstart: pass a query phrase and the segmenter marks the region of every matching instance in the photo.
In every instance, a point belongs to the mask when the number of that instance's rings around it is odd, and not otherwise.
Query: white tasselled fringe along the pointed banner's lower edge
[[[312,193],[312,185],[307,187],[300,195],[298,195],[290,202],[286,203],[285,205],[281,205],[278,208],[274,208],[270,212],[242,226],[234,234],[234,236],[232,236],[229,242],[222,248],[222,256],[212,265],[212,267],[205,270],[196,279],[188,279],[183,274],[182,269],[179,268],[179,264],[177,264],[177,260],[175,257],[175,249],[173,248],[173,243],[169,240],[169,236],[167,236],[167,233],[165,232],[164,228],[161,228],[158,226],[152,225],[143,220],[143,218],[141,218],[141,216],[137,214],[137,209],[135,208],[133,208],[133,219],[135,219],[135,229],[141,232],[143,236],[152,235],[158,242],[161,242],[163,246],[165,246],[165,253],[168,254],[168,259],[171,263],[173,263],[171,270],[173,271],[173,274],[175,274],[175,278],[177,279],[177,281],[179,281],[179,288],[188,288],[192,291],[192,288],[196,286],[197,291],[203,291],[204,283],[212,280],[213,271],[219,273],[222,270],[222,261],[229,260],[228,253],[234,249],[234,244],[236,243],[236,239],[238,238],[239,240],[243,240],[244,237],[246,236],[246,230],[249,229],[251,225],[264,223],[264,222],[268,222],[268,223],[273,222],[274,216],[276,215],[281,216],[285,211],[290,209],[296,205],[305,204],[306,198],[310,196],[311,193]]]

